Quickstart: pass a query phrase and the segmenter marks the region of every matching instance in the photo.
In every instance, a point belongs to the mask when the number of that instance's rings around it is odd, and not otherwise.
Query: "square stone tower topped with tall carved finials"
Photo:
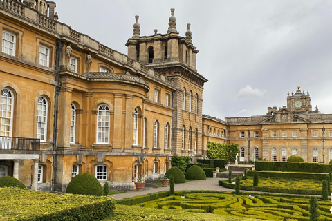
[[[133,37],[128,39],[128,56],[172,81],[172,153],[174,155],[204,155],[202,147],[203,85],[208,79],[197,73],[196,55],[192,44],[190,23],[185,37],[176,30],[174,8],[171,8],[166,34],[154,30],[154,35],[140,36],[138,16],[133,25]]]

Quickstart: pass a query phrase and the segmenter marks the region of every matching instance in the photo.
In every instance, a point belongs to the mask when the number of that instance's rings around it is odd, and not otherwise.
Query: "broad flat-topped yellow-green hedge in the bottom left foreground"
[[[113,198],[0,188],[0,220],[102,220],[115,208]]]

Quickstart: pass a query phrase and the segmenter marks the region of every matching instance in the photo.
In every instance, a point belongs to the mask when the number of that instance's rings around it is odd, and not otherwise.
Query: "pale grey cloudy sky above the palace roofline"
[[[139,15],[140,35],[176,29],[199,50],[209,81],[203,114],[224,119],[265,115],[286,106],[287,93],[309,91],[313,110],[332,113],[332,1],[324,0],[55,0],[59,21],[127,55]]]

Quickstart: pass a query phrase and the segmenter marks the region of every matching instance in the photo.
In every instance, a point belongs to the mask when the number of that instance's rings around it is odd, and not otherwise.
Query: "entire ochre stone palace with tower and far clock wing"
[[[55,7],[0,0],[0,177],[65,191],[91,173],[131,189],[140,175],[163,176],[174,155],[205,157],[209,141],[239,144],[241,162],[331,159],[332,115],[311,111],[299,89],[263,116],[203,115],[208,79],[196,70],[190,24],[181,37],[174,9],[165,34],[140,36],[136,16],[124,55],[58,21]]]

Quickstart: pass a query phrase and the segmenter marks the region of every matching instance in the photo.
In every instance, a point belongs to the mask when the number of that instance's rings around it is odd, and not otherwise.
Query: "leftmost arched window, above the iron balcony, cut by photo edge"
[[[12,136],[13,103],[12,93],[3,88],[0,95],[0,136]]]

